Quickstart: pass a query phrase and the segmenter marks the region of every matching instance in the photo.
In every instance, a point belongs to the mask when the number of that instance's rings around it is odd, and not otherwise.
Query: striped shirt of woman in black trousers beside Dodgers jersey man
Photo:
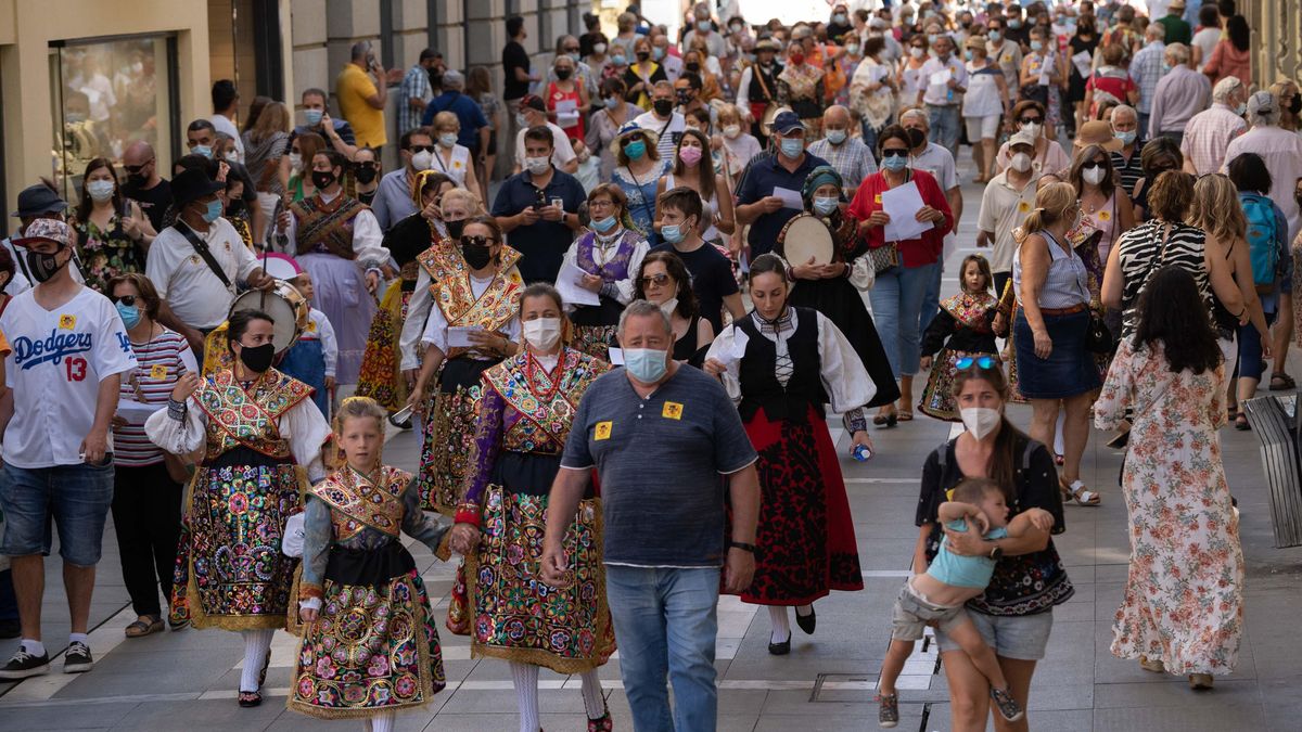
[[[168,396],[181,374],[199,369],[185,337],[167,328],[148,343],[133,341],[132,350],[135,352],[139,366],[135,371],[122,374],[120,400],[156,404],[167,409]],[[145,435],[143,419],[113,427],[113,461],[117,465],[141,468],[161,460],[163,451]]]

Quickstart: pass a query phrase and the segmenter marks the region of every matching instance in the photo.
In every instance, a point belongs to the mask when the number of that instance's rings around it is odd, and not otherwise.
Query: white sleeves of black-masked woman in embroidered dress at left
[[[189,455],[199,449],[207,439],[208,415],[194,396],[185,401],[185,419],[173,419],[168,409],[160,409],[145,421],[145,434],[150,440],[172,455]],[[310,399],[290,406],[276,419],[276,430],[289,442],[294,462],[307,470],[309,481],[326,477],[322,445],[329,440],[329,422]]]

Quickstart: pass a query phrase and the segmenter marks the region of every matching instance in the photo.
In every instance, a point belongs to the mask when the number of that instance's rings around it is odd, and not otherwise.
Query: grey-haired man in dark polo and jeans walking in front
[[[755,572],[758,456],[723,386],[671,358],[673,333],[656,305],[630,303],[618,337],[625,367],[589,387],[570,425],[548,499],[543,580],[568,582],[562,539],[595,468],[615,637],[637,649],[620,655],[633,725],[713,729],[719,574],[740,593]]]

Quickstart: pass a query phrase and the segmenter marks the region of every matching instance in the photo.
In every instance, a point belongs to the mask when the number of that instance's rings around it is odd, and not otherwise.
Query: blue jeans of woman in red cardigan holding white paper
[[[872,301],[872,322],[887,349],[891,373],[898,379],[918,373],[922,328],[918,314],[927,297],[927,288],[936,279],[940,263],[922,267],[894,267],[878,275],[878,284],[868,292]]]

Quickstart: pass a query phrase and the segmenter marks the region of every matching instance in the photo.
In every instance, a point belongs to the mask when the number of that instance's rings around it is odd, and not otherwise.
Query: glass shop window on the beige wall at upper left
[[[81,177],[94,158],[121,173],[132,143],[154,146],[159,172],[171,172],[176,44],[168,35],[66,40],[51,44],[53,181],[66,201],[81,199]]]

